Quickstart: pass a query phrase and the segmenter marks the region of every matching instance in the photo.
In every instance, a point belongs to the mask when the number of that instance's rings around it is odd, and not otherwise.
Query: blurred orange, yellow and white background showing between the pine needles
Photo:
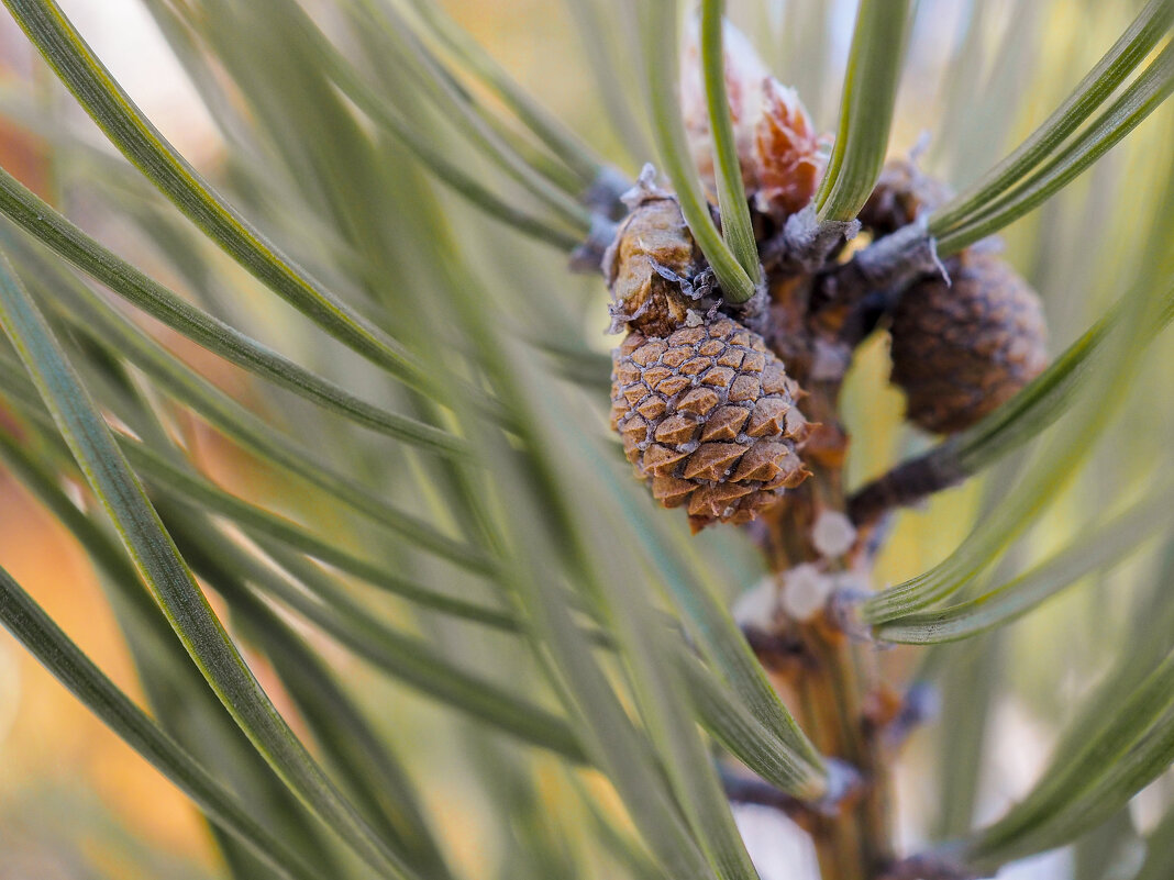
[[[220,133],[150,16],[135,0],[61,0],[61,5],[155,124],[215,178],[223,149]],[[306,6],[329,19],[325,5]],[[635,170],[606,123],[588,63],[589,47],[569,9],[573,4],[450,0],[445,6],[542,103],[602,153]],[[931,171],[954,187],[965,184],[1047,115],[1139,6],[1121,0],[923,0],[891,153],[917,149]],[[740,0],[730,7],[735,22],[758,45],[774,72],[795,84],[819,126],[831,129],[855,2]],[[103,214],[101,203],[88,197],[85,169],[75,171],[68,155],[54,151],[52,137],[45,136],[46,120],[113,155],[32,56],[7,16],[0,19],[0,164],[42,196],[65,204],[87,231],[182,289],[133,225]],[[1127,283],[1151,202],[1174,162],[1172,109],[1155,113],[1091,172],[1003,236],[1007,257],[1045,299],[1053,351],[1087,327]],[[1155,185],[1145,185],[1147,181]],[[556,258],[534,259],[548,279],[547,295],[575,303],[583,338],[606,351],[602,284],[567,278]],[[169,343],[177,345],[174,339]],[[902,426],[900,397],[884,381],[885,345],[878,338],[862,352],[845,393],[853,436],[864,439],[852,446],[853,483],[929,442]],[[1141,402],[1101,442],[1088,473],[1017,546],[1005,570],[1017,570],[1055,547],[1086,521],[1109,483],[1114,489],[1140,485],[1149,469],[1168,466],[1165,444],[1174,436],[1174,407],[1162,398],[1169,391],[1162,377],[1170,374],[1174,352],[1165,348],[1151,358],[1139,388],[1131,392]],[[238,399],[265,405],[235,371],[198,351],[183,353]],[[1147,394],[1158,395],[1151,402],[1160,405],[1145,405]],[[197,425],[191,431],[203,466],[218,480],[257,499],[279,499],[282,486],[263,471],[215,435],[198,436]],[[1000,466],[984,480],[944,493],[925,509],[903,514],[882,561],[882,580],[895,582],[940,560],[981,515],[984,497],[997,494],[1021,466],[1018,460]],[[954,819],[937,806],[950,785],[938,772],[943,753],[976,750],[981,763],[978,819],[997,815],[1027,788],[1057,730],[1128,631],[1133,605],[1113,596],[1143,578],[1155,564],[1153,556],[1139,554],[1113,571],[1087,578],[997,638],[930,656],[893,651],[886,657],[895,672],[937,664],[940,681],[953,684],[946,689],[942,722],[916,737],[902,766],[902,828],[908,841],[952,827]],[[2,471],[0,561],[99,665],[141,695],[85,555]],[[741,547],[737,562],[741,577],[730,584],[731,601],[757,576],[748,548]],[[335,659],[349,663],[342,655]],[[357,666],[353,675],[366,676]],[[429,806],[448,845],[470,867],[468,875],[478,875],[477,866],[486,860],[502,858],[500,852],[486,852],[491,845],[478,833],[481,814],[493,807],[485,792],[470,796],[459,757],[464,735],[433,736],[448,717],[377,681],[370,683],[367,703],[376,711],[380,704],[389,706],[384,720],[394,717],[404,757],[417,777],[427,780],[421,787]],[[978,746],[959,743],[959,719],[987,708],[989,736]],[[541,796],[556,815],[565,781],[553,772],[549,781]],[[1151,827],[1172,796],[1169,774],[1142,792],[1131,806],[1133,831]],[[783,820],[756,808],[738,812],[764,880],[802,876],[810,869],[798,867],[810,865],[810,857]],[[1121,839],[1128,841],[1129,834]],[[1071,853],[1060,852],[1019,866],[1016,873],[1067,878],[1071,865]],[[211,838],[185,799],[0,632],[0,880],[205,878],[218,871]]]

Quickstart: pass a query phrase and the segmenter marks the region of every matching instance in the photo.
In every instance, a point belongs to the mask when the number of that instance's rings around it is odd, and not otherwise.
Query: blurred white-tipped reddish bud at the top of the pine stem
[[[781,221],[815,196],[828,164],[829,142],[821,138],[795,89],[770,75],[749,40],[729,22],[722,32],[726,90],[742,182],[755,208]],[[699,27],[693,22],[681,50],[681,113],[689,153],[710,192],[714,142],[701,72]]]

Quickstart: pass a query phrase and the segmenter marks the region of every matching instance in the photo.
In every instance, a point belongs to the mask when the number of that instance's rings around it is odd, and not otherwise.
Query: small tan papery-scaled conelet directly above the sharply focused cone
[[[676,198],[650,184],[603,255],[612,291],[612,332],[668,336],[688,317],[693,278],[703,264]]]

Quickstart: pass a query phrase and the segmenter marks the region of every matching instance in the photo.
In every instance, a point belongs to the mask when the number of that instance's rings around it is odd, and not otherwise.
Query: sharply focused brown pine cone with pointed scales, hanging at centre
[[[613,352],[612,427],[636,475],[697,532],[749,522],[809,474],[798,385],[757,333],[720,316]]]

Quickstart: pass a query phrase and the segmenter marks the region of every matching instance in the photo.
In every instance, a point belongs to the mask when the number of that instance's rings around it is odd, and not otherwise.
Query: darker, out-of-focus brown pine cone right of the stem
[[[1039,297],[1006,263],[964,251],[952,284],[922,280],[892,318],[892,381],[906,418],[951,434],[970,427],[1039,375],[1047,330]]]

